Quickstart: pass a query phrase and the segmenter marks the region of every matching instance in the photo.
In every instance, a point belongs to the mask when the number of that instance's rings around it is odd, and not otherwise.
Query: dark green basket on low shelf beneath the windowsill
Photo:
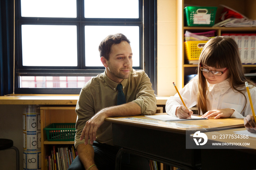
[[[74,141],[75,123],[52,123],[44,128],[48,141]]]

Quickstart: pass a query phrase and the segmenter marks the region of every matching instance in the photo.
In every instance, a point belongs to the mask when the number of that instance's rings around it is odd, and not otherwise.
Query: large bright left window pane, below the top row
[[[22,25],[23,66],[77,66],[76,26]]]

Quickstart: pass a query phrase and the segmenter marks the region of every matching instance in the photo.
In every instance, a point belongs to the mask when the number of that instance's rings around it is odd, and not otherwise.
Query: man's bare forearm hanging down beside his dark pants
[[[76,149],[78,151],[79,159],[83,163],[85,169],[88,169],[91,165],[95,164],[93,146],[90,144],[79,144]]]

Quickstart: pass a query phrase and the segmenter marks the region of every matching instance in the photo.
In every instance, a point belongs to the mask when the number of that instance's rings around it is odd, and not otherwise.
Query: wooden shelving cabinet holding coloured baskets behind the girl
[[[220,36],[225,33],[256,33],[256,27],[184,27],[184,7],[185,6],[212,6],[218,7],[216,12],[215,24],[220,22],[219,16],[222,9],[220,4],[228,6],[242,14],[249,19],[256,19],[256,11],[253,7],[256,6],[256,1],[252,0],[182,0],[176,1],[177,3],[177,79],[179,88],[184,86],[184,76],[190,74],[197,74],[197,65],[185,63],[184,54],[184,34],[185,31],[190,32],[207,32],[215,30],[215,36]],[[250,70],[256,69],[256,65],[243,65],[245,73]]]

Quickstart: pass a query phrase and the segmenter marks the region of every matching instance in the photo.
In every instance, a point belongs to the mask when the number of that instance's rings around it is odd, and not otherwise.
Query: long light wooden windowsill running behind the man
[[[0,96],[0,104],[38,104],[38,105],[76,105],[78,94],[73,95],[40,95],[15,94],[14,96]],[[169,97],[157,96],[157,104],[165,105]]]

